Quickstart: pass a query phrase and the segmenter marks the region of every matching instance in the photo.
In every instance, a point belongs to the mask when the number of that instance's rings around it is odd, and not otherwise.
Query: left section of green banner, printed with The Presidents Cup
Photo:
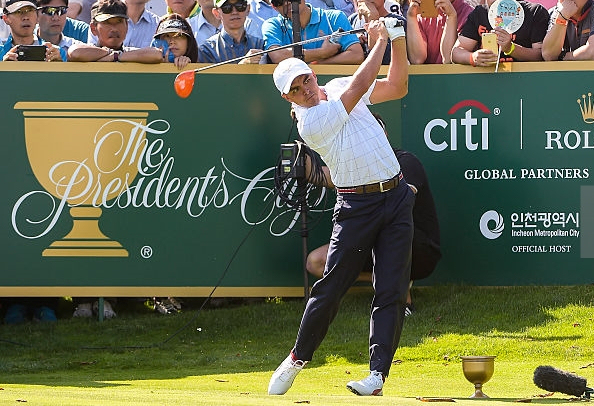
[[[0,295],[200,296],[224,272],[216,295],[303,295],[299,213],[273,180],[296,134],[271,71],[199,75],[180,99],[173,70],[105,65],[0,72]],[[312,199],[313,249],[334,195]]]

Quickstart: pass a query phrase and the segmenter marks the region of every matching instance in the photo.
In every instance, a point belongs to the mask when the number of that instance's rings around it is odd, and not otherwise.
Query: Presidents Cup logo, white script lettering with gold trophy
[[[63,214],[73,220],[43,256],[129,256],[100,229],[102,211],[111,208],[172,210],[198,219],[235,206],[246,224],[266,223],[274,237],[299,222],[300,211],[276,193],[274,166],[246,175],[221,156],[201,175],[178,176],[165,139],[171,126],[148,120],[155,104],[19,102],[15,109],[23,110],[27,156],[41,188],[14,202],[12,228],[33,240],[48,235]],[[283,185],[287,197],[302,193],[297,186],[293,180]],[[325,188],[306,196],[312,212],[327,210]]]

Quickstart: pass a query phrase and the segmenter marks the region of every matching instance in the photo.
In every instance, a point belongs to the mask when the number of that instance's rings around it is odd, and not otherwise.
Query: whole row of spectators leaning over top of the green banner
[[[557,4],[555,0],[518,0],[524,21],[512,33],[491,26],[488,9],[494,1],[301,0],[301,38],[361,28],[371,20],[393,17],[405,24],[411,64],[488,66],[497,60],[594,59],[589,41],[594,34],[592,0],[565,0]],[[420,12],[423,2],[432,2],[437,15],[424,16]],[[291,0],[2,3],[3,61],[18,60],[19,45],[45,45],[46,61],[172,62],[179,69],[188,63],[223,62],[246,55],[241,63],[278,63],[293,56],[290,48],[269,52],[265,57],[250,56],[293,42]],[[187,24],[175,23],[180,19]],[[160,23],[165,21],[169,21],[167,32],[159,32]],[[486,32],[496,35],[499,55],[483,46],[482,34]],[[100,39],[102,35],[104,38]],[[358,65],[373,46],[367,42],[366,34],[350,34],[305,44],[303,57],[308,63]],[[384,64],[389,63],[389,55],[388,49]]]

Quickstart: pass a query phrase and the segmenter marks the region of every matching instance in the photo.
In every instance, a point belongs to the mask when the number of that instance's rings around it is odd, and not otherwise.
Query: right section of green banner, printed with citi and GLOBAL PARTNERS
[[[403,146],[427,168],[442,230],[428,283],[592,282],[592,65],[518,65],[410,77]]]

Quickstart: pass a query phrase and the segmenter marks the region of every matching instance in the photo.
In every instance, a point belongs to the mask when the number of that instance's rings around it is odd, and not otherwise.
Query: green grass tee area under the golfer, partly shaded
[[[116,319],[60,319],[0,326],[0,405],[421,405],[417,396],[496,406],[535,397],[538,365],[594,382],[594,288],[435,286],[413,289],[383,398],[356,397],[345,383],[367,375],[371,292],[350,293],[314,360],[285,396],[266,395],[290,350],[303,301],[269,299],[178,315],[120,308]],[[70,309],[66,309],[65,314]],[[184,325],[188,327],[179,331]],[[133,348],[145,347],[145,348]],[[460,357],[495,355],[485,384],[473,386]],[[591,382],[590,382],[591,384]],[[440,403],[443,404],[443,403]]]

